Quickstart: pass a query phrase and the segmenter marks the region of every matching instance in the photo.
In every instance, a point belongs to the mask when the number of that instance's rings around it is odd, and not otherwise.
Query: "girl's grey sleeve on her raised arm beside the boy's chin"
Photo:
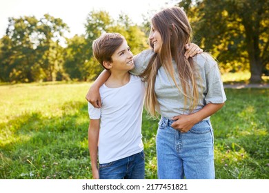
[[[141,72],[146,70],[150,58],[152,57],[153,54],[154,54],[153,50],[144,50],[143,52],[140,52],[139,54],[135,55],[134,57],[135,68],[130,70],[130,73],[139,76]]]

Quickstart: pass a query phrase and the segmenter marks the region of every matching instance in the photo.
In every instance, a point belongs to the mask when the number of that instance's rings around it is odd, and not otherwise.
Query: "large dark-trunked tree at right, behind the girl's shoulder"
[[[201,43],[217,54],[223,63],[239,61],[250,64],[250,82],[262,81],[269,63],[269,1],[195,0],[181,1]]]

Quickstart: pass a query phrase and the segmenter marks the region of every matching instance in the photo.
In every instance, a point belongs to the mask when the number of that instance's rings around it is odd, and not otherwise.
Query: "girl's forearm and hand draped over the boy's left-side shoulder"
[[[92,86],[86,94],[86,100],[89,101],[94,108],[101,108],[101,96],[99,88],[103,85],[106,80],[110,77],[110,72],[108,70],[103,70],[97,79],[92,83]]]

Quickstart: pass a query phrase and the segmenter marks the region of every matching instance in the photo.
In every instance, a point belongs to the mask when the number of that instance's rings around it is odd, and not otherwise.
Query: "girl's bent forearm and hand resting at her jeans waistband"
[[[211,116],[223,107],[224,103],[208,103],[201,110],[193,114],[181,114],[174,116],[172,120],[177,120],[172,123],[172,128],[181,132],[188,132],[196,123],[202,121],[208,116]]]

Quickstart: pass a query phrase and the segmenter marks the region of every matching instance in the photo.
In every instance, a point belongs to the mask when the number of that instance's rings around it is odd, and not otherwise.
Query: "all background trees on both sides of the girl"
[[[215,56],[222,70],[250,70],[251,82],[269,74],[269,1],[183,0],[192,23],[194,42]],[[148,48],[148,18],[140,26],[120,13],[92,11],[85,33],[68,39],[68,26],[45,14],[10,18],[6,35],[0,39],[0,81],[90,81],[103,70],[92,55],[92,41],[104,32],[126,37],[134,54]]]

